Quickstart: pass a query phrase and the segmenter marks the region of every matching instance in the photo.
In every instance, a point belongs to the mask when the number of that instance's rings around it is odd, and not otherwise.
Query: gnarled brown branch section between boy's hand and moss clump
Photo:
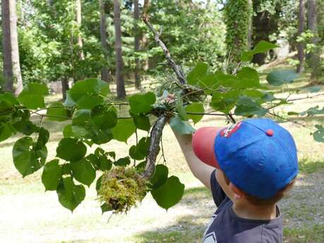
[[[162,136],[162,130],[167,123],[167,116],[162,114],[152,127],[150,132],[150,147],[148,148],[148,157],[146,158],[146,167],[143,177],[150,179],[155,173],[155,161],[159,154],[159,144]]]

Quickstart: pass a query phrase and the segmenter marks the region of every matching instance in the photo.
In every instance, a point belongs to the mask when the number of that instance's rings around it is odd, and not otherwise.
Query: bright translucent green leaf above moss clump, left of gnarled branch
[[[114,139],[120,142],[126,142],[136,130],[136,126],[133,123],[133,119],[119,119],[116,127],[112,130]]]

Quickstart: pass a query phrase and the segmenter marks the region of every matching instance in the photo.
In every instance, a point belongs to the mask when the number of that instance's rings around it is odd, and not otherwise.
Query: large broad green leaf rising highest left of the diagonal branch
[[[69,98],[71,98],[73,101],[78,103],[80,106],[89,106],[87,105],[86,100],[88,99],[88,102],[94,106],[94,104],[97,105],[97,96],[107,96],[109,92],[109,85],[107,82],[104,82],[99,79],[88,79],[83,81],[76,82],[73,87],[69,90]],[[95,99],[95,102],[90,101],[91,99]],[[85,107],[80,107],[85,108]],[[86,107],[86,108],[92,108],[92,107]]]

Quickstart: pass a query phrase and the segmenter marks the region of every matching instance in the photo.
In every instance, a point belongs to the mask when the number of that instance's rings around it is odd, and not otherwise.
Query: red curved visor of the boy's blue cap
[[[193,152],[209,166],[220,168],[215,156],[215,137],[224,127],[201,127],[193,134]]]

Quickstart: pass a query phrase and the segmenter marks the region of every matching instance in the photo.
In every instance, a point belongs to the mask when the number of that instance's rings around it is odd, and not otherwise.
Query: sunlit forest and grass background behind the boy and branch
[[[299,74],[292,86],[268,87],[273,94],[296,99],[275,114],[301,144],[301,177],[292,196],[282,204],[287,211],[284,239],[323,242],[323,189],[318,186],[323,185],[323,144],[314,142],[313,130],[307,128],[323,125],[323,0],[2,0],[1,92],[18,96],[28,84],[40,83],[49,87],[45,102],[50,104],[65,101],[68,89],[89,78],[107,82],[109,100],[116,102],[127,101],[131,94],[161,92],[174,75],[143,17],[160,33],[186,74],[198,62],[207,63],[211,72],[235,74],[243,65],[241,54],[260,41],[280,46],[254,55],[248,66],[259,70],[265,86],[265,76],[272,70]],[[318,96],[301,99],[300,95],[311,96],[308,93],[312,92]],[[311,107],[316,110],[302,114]],[[222,117],[212,119],[203,118],[201,125],[227,123]],[[64,125],[44,122],[53,148]],[[1,123],[1,141],[6,136],[4,127]],[[176,143],[169,127],[164,132],[164,154],[170,173],[186,185],[184,199],[166,213],[148,198],[127,216],[112,216],[109,223],[110,216],[104,218],[94,210],[93,186],[83,206],[67,216],[53,199],[55,194],[48,192],[45,197],[39,172],[21,179],[11,162],[16,139],[13,136],[0,144],[4,154],[0,162],[1,215],[6,215],[0,221],[0,235],[6,242],[119,242],[125,229],[131,230],[122,237],[124,242],[200,241],[213,210],[210,194],[188,173],[179,148],[174,151]],[[131,142],[135,139],[131,137]],[[107,149],[125,153],[118,142],[109,143]],[[49,149],[50,154],[54,149]],[[199,208],[197,200],[204,201],[210,212]],[[163,218],[160,224],[157,218]]]

